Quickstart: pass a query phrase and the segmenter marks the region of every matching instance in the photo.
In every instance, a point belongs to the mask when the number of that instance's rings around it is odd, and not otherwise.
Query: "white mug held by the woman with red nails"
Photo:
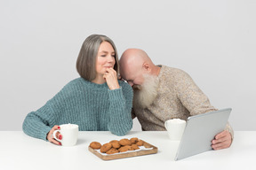
[[[56,137],[56,133],[60,132],[62,139],[59,140]],[[78,125],[76,124],[63,124],[60,125],[60,130],[55,130],[52,134],[54,139],[59,141],[62,146],[74,146],[76,145],[78,138]]]

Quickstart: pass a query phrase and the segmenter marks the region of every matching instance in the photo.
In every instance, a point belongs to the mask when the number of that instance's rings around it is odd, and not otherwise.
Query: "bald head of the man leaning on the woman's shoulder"
[[[156,69],[158,69],[148,54],[140,49],[125,50],[119,60],[119,65],[121,77],[128,82],[132,81],[130,85],[141,84],[143,82],[142,74],[157,74]]]

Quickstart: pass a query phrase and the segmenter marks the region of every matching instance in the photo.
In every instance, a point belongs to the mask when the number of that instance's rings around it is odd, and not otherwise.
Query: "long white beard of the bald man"
[[[157,96],[157,88],[159,78],[155,75],[144,74],[144,82],[142,85],[133,86],[133,107],[147,108],[154,102]]]

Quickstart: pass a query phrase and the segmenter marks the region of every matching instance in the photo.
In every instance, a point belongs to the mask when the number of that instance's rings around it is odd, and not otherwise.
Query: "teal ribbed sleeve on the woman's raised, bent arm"
[[[115,135],[125,135],[132,128],[132,88],[127,83],[121,83],[123,87],[120,89],[108,89],[108,130]]]

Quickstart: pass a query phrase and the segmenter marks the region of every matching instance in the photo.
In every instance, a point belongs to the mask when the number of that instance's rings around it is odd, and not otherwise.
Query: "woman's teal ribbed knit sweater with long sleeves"
[[[120,89],[77,78],[70,81],[23,122],[25,134],[47,141],[54,125],[77,124],[80,131],[110,131],[125,135],[132,128],[132,88],[118,81]]]

